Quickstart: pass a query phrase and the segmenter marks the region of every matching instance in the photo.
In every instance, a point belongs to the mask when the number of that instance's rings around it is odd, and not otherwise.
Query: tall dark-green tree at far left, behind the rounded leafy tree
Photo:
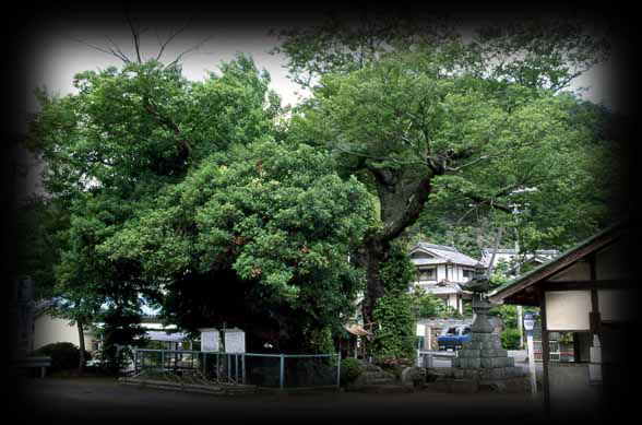
[[[60,220],[41,231],[57,238],[40,273],[52,272],[55,284],[40,275],[37,284],[63,298],[58,312],[79,323],[79,332],[106,303],[133,309],[141,294],[158,296],[158,282],[97,246],[212,152],[271,138],[278,99],[269,81],[239,56],[204,82],[185,80],[178,63],[151,60],[79,73],[78,94],[38,92],[41,111],[25,144],[44,163],[47,205]]]

